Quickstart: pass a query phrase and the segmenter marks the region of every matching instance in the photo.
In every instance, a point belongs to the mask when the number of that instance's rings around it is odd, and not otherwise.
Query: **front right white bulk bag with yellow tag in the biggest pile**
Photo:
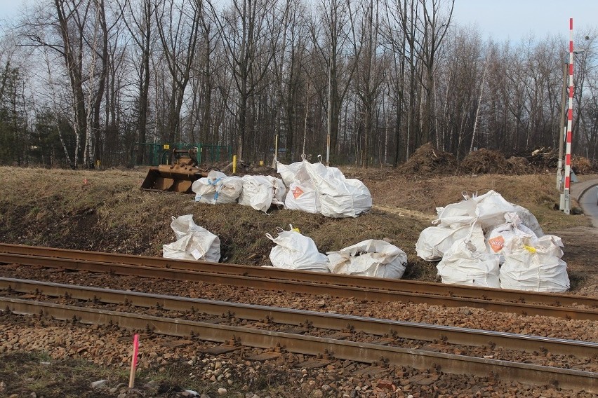
[[[513,238],[500,267],[500,287],[528,291],[566,291],[570,287],[561,238],[544,235],[536,242]]]

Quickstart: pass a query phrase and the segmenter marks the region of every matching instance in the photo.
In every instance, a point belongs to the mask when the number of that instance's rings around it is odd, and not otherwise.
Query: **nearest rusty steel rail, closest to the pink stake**
[[[2,297],[0,308],[8,308],[12,313],[24,315],[43,313],[44,316],[57,320],[77,319],[84,324],[112,323],[126,329],[150,329],[157,334],[193,335],[204,341],[234,341],[248,347],[264,349],[279,346],[288,352],[304,355],[327,355],[362,363],[383,360],[389,364],[412,366],[415,369],[435,367],[446,373],[492,376],[521,383],[558,385],[576,391],[598,392],[598,373],[595,372]]]

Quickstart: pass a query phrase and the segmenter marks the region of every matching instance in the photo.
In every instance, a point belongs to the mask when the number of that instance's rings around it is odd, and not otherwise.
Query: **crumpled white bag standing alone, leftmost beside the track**
[[[176,241],[162,246],[166,259],[220,260],[220,238],[193,221],[193,214],[172,217],[171,228]]]

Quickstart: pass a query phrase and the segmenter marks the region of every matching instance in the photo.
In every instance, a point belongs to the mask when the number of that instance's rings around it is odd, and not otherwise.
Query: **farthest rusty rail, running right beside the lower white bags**
[[[574,296],[571,294],[522,291],[512,289],[493,289],[490,287],[471,287],[458,284],[440,284],[413,280],[388,280],[377,277],[315,273],[311,271],[286,270],[274,267],[244,266],[231,263],[213,263],[210,261],[186,261],[164,259],[161,257],[133,256],[131,254],[88,252],[83,250],[56,249],[27,245],[0,243],[0,253],[50,256],[62,259],[76,259],[109,263],[123,263],[135,266],[151,266],[176,270],[195,270],[209,273],[244,275],[249,277],[269,277],[279,280],[298,280],[352,286],[368,289],[410,291],[412,293],[431,293],[444,296],[458,296],[488,301],[512,301],[517,303],[539,303],[549,306],[587,306],[598,308],[598,297]]]

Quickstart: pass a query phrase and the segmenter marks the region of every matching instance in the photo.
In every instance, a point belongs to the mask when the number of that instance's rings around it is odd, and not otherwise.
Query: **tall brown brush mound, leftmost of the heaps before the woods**
[[[397,171],[401,174],[442,175],[451,174],[457,168],[452,153],[434,148],[431,142],[423,144]]]

